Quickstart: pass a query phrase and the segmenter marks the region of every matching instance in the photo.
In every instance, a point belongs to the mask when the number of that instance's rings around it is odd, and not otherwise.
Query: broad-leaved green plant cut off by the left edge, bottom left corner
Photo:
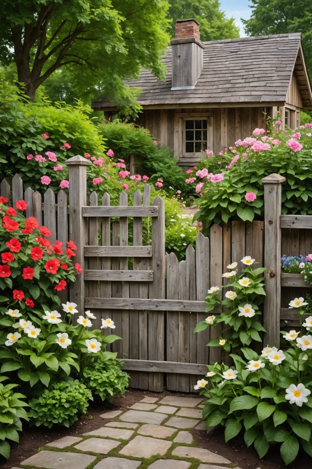
[[[17,384],[3,385],[6,376],[0,376],[0,455],[6,459],[10,455],[10,444],[7,440],[19,442],[18,431],[22,431],[21,418],[28,420],[27,412],[24,409],[29,405],[21,401],[25,398],[21,393],[12,391]]]

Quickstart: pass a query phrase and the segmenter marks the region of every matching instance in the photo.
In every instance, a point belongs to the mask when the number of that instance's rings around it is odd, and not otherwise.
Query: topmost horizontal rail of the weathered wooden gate
[[[99,206],[82,207],[83,217],[158,217],[158,207],[153,205],[145,206]]]

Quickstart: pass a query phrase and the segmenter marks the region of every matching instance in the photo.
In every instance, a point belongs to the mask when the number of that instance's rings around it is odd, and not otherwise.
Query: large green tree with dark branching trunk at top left
[[[2,0],[0,62],[15,62],[30,100],[66,68],[73,86],[133,104],[138,91],[131,92],[123,78],[137,77],[141,67],[164,76],[166,12],[165,0]]]

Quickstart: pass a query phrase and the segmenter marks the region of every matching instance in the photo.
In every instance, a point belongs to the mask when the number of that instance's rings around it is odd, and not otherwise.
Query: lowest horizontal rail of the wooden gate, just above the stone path
[[[152,371],[161,373],[188,373],[195,375],[207,373],[207,366],[198,363],[163,362],[153,360],[123,360],[122,370]]]

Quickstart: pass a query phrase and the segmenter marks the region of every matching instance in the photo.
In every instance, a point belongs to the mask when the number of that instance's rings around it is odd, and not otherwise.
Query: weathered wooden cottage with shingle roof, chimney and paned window
[[[301,46],[301,33],[202,42],[196,20],[176,22],[163,63],[166,81],[148,70],[127,80],[142,90],[143,112],[136,123],[161,144],[174,149],[181,166],[198,161],[201,151],[225,151],[266,118],[282,128],[300,124],[300,110],[312,109],[312,91]],[[92,107],[106,119],[116,104],[96,99]]]

